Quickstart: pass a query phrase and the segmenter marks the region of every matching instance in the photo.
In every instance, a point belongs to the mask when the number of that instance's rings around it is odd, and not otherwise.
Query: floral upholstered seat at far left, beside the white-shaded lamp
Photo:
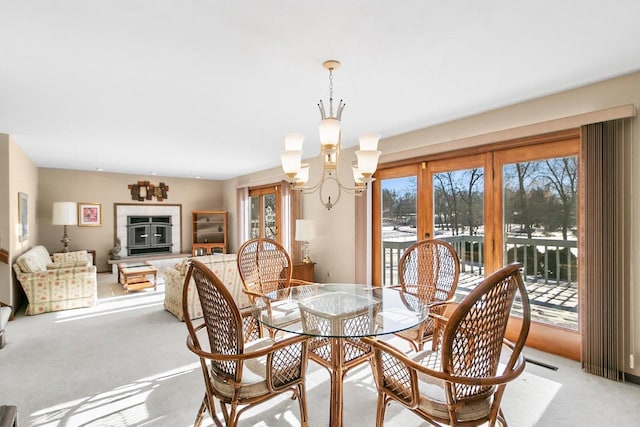
[[[56,253],[35,246],[13,269],[27,295],[25,314],[91,307],[98,301],[98,275],[87,251]]]

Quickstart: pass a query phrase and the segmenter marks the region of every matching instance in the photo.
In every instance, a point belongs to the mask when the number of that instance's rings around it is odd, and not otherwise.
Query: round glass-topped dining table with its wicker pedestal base
[[[342,426],[346,372],[371,361],[371,348],[359,338],[410,329],[429,309],[416,295],[397,288],[325,283],[292,286],[254,299],[253,315],[265,327],[307,335],[309,357],[331,377],[330,426]]]

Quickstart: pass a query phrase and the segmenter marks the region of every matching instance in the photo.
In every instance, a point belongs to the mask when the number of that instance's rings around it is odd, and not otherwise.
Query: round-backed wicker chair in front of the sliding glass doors
[[[418,295],[430,308],[427,320],[396,335],[407,340],[416,351],[422,350],[424,343],[431,340],[432,350],[435,350],[446,323],[444,312],[447,304],[453,302],[458,286],[458,254],[443,240],[426,239],[409,246],[398,265],[398,281],[402,290]]]

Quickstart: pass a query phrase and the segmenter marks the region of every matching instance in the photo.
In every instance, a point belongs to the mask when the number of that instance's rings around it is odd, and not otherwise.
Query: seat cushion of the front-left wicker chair
[[[270,338],[261,338],[251,341],[245,345],[245,352],[258,351],[266,347],[270,347],[275,343]],[[245,360],[242,369],[242,385],[240,386],[240,399],[250,399],[269,393],[267,387],[267,356],[255,359]],[[221,395],[231,399],[234,393],[234,387],[224,381],[221,381],[215,373],[211,373],[213,387]]]

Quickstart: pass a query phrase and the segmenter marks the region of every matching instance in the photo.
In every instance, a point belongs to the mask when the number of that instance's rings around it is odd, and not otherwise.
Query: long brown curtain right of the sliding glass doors
[[[627,353],[630,147],[630,119],[582,127],[582,367],[613,380],[624,379]]]

